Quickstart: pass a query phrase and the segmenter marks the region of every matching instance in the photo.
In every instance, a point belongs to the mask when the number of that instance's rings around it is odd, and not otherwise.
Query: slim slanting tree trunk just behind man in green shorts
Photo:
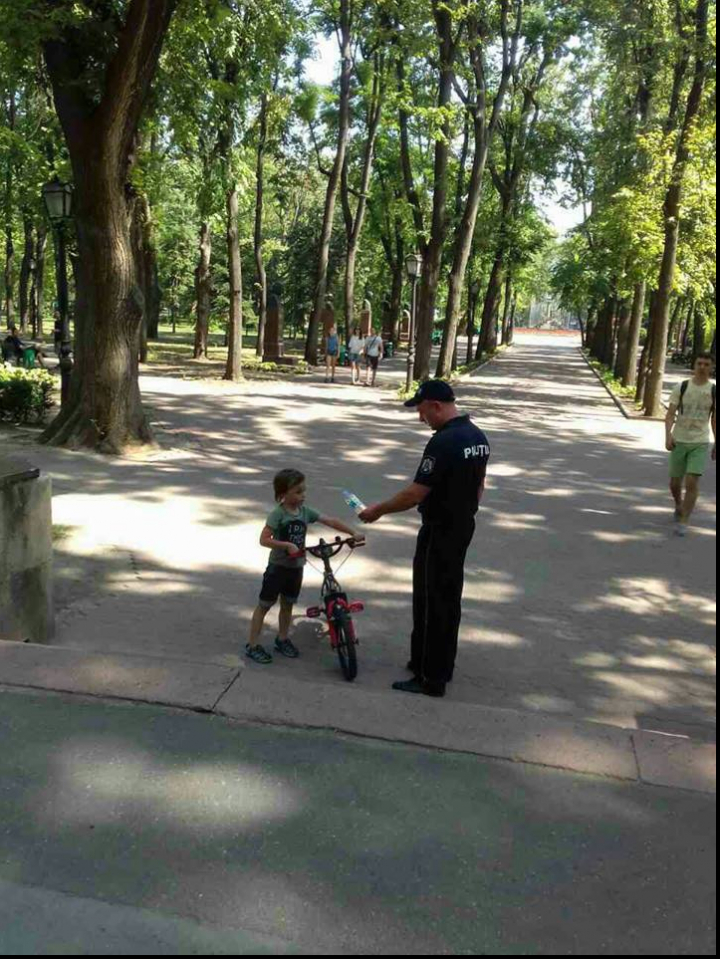
[[[645,393],[646,416],[659,416],[665,377],[665,357],[670,326],[670,297],[675,283],[677,252],[680,240],[680,218],[685,174],[691,157],[691,137],[702,106],[707,78],[709,0],[698,0],[695,11],[695,75],[688,95],[685,119],[678,142],[672,180],[665,197],[665,249],[658,280],[658,292],[653,304],[652,324],[655,329],[650,376]]]

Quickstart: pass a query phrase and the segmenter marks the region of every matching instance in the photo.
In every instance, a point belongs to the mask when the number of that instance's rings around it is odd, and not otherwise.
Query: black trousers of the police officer
[[[428,683],[452,679],[460,630],[465,557],[475,532],[462,526],[425,523],[413,564],[413,635],[411,661]]]

